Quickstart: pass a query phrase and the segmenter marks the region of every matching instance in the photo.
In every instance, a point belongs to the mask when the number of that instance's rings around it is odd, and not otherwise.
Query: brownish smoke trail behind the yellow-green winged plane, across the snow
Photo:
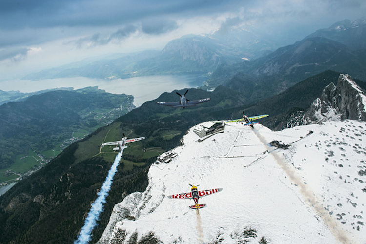
[[[259,134],[259,132],[254,129],[253,130],[258,139],[267,146],[268,143],[265,139]],[[268,151],[270,148],[267,148]],[[342,228],[337,224],[337,222],[329,216],[329,213],[325,211],[324,207],[321,204],[321,201],[317,199],[317,197],[310,191],[308,187],[303,183],[300,176],[298,176],[293,168],[291,168],[288,164],[284,162],[281,156],[279,156],[276,152],[272,152],[273,158],[276,160],[278,165],[285,171],[287,176],[291,179],[291,181],[298,185],[300,188],[300,193],[305,198],[305,202],[311,206],[314,211],[323,219],[324,223],[328,226],[329,230],[332,232],[334,237],[343,244],[352,243],[348,238],[347,234],[342,230]]]

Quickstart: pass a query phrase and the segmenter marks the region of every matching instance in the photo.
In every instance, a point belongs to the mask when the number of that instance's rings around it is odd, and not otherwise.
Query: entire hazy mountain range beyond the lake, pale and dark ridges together
[[[366,80],[365,30],[366,18],[344,20],[280,47],[278,41],[261,33],[236,28],[225,33],[184,36],[170,41],[161,51],[85,60],[30,74],[24,79],[74,76],[116,79],[200,71],[208,77],[203,82],[204,89],[224,85],[253,94],[251,99],[259,100],[325,70]]]

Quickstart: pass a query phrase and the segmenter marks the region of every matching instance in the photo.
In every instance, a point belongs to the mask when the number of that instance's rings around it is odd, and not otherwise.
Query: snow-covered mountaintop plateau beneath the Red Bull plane
[[[313,133],[309,133],[313,131]],[[144,192],[114,207],[100,244],[366,242],[366,123],[352,120],[283,131],[241,123],[201,142],[193,128],[172,160],[154,163]],[[291,143],[287,149],[272,140]],[[200,198],[168,195],[223,188]]]

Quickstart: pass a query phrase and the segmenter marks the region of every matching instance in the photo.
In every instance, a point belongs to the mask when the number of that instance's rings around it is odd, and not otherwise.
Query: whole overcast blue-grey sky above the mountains
[[[239,25],[270,35],[297,29],[304,38],[365,13],[365,0],[1,0],[0,73],[11,79],[86,57],[162,49],[186,34]]]

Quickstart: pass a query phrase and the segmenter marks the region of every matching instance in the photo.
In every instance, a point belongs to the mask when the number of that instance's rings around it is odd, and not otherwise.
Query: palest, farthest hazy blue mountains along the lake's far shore
[[[187,35],[169,41],[161,51],[104,56],[29,74],[23,79],[42,80],[83,76],[115,79],[145,75],[213,72],[221,64],[253,60],[279,48],[276,41],[254,28],[232,28],[204,35]]]

